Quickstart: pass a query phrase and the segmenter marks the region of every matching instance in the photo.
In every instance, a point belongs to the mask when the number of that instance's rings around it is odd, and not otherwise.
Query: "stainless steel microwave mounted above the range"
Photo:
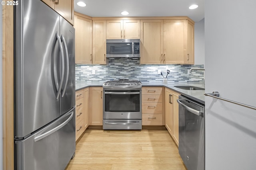
[[[107,39],[107,58],[140,57],[140,39]]]

